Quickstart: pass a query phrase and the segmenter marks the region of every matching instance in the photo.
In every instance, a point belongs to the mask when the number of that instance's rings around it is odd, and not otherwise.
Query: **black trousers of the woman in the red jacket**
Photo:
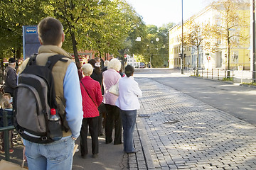
[[[83,118],[82,119],[82,128],[80,130],[81,155],[88,154],[88,148],[87,148],[88,126],[89,126],[90,135],[92,137],[92,154],[99,153],[98,117]]]

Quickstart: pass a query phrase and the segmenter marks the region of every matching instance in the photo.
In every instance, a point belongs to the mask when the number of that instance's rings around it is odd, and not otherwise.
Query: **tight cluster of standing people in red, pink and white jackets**
[[[107,67],[101,67],[99,57],[91,59],[81,68],[85,77],[80,79],[82,94],[83,120],[80,131],[81,157],[86,158],[87,131],[92,138],[92,157],[98,157],[98,136],[102,132],[102,115],[105,115],[105,143],[110,144],[114,129],[114,145],[124,144],[124,152],[134,153],[137,149],[133,146],[133,132],[139,109],[138,96],[142,96],[139,85],[134,81],[134,68],[125,67],[123,76],[121,62],[117,59],[110,60]],[[103,68],[103,69],[102,69]],[[79,69],[79,67],[78,67]],[[78,74],[79,74],[78,70]],[[109,89],[114,84],[119,84],[119,96],[111,94]],[[122,127],[123,140],[122,142]]]

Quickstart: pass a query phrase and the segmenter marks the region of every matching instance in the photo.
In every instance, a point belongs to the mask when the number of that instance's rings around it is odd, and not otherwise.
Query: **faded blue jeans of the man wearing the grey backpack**
[[[49,144],[23,140],[29,170],[71,170],[75,141],[71,137]]]

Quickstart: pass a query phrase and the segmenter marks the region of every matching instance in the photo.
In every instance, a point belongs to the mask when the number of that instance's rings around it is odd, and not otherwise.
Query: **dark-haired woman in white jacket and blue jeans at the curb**
[[[134,67],[127,65],[124,69],[126,77],[119,79],[119,97],[116,106],[120,109],[124,135],[124,152],[135,153],[137,149],[133,145],[133,132],[136,123],[137,109],[139,106],[138,97],[142,96],[139,84],[134,80]]]

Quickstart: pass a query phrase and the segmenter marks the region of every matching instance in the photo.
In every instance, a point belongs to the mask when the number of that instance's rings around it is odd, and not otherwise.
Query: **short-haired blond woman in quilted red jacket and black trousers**
[[[90,75],[92,74],[92,65],[84,64],[82,66],[82,73],[85,75],[80,80],[80,88],[82,93],[82,128],[80,131],[80,150],[82,158],[86,158],[88,154],[87,148],[87,129],[92,137],[92,157],[96,158],[99,153],[98,142],[98,107],[102,103],[102,94],[100,90],[100,83],[93,80]]]

